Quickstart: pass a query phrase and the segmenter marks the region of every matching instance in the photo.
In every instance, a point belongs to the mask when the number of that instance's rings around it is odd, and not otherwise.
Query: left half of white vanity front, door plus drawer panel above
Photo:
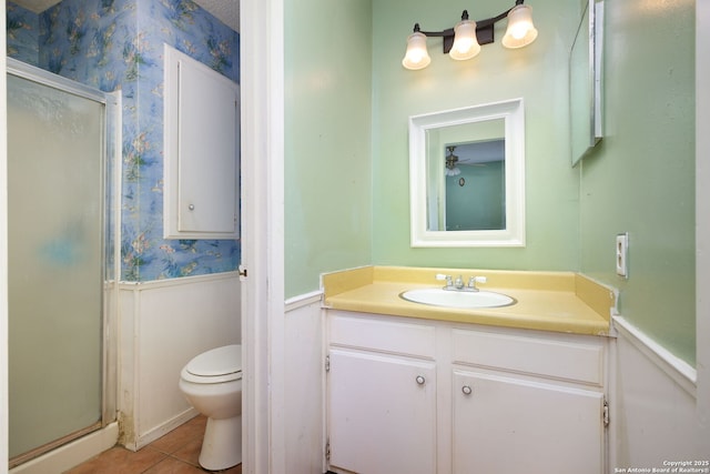
[[[345,314],[329,326],[331,470],[436,472],[434,327]]]

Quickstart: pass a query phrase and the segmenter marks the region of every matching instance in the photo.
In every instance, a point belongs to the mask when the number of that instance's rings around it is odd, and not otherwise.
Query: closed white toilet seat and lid
[[[193,357],[181,372],[186,382],[224,383],[242,379],[242,346],[216,347]]]

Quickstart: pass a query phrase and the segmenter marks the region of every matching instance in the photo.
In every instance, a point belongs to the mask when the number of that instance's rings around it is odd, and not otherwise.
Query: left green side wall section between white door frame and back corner
[[[285,293],[372,261],[372,10],[285,2]]]

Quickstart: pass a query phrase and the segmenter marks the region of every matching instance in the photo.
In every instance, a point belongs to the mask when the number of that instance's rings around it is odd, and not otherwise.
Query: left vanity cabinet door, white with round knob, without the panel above
[[[327,377],[332,471],[436,472],[433,361],[333,347]]]

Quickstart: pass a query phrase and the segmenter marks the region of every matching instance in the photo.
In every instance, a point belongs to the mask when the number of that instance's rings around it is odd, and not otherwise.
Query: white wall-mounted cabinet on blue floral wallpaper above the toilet
[[[239,85],[164,47],[165,239],[236,239]]]

